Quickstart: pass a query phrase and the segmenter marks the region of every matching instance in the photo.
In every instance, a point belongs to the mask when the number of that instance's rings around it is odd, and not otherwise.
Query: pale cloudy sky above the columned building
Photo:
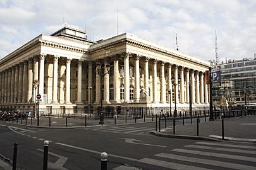
[[[65,23],[89,40],[121,33],[178,48],[202,60],[226,62],[256,53],[255,0],[0,0],[0,59]]]

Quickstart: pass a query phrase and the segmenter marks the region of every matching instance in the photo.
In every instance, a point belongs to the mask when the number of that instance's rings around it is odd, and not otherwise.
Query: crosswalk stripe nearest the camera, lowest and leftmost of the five
[[[150,158],[143,158],[138,160],[138,162],[143,162],[145,164],[151,164],[154,166],[161,166],[161,167],[168,167],[171,169],[176,169],[176,170],[210,170],[204,167],[197,167],[197,166],[188,166],[185,164],[178,164],[174,162],[166,162],[166,161],[160,161],[156,159],[150,159]]]

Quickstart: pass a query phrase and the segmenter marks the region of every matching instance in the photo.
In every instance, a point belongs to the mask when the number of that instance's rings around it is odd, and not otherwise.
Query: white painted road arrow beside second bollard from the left
[[[41,152],[44,152],[44,150],[42,150],[42,149],[37,149],[37,150],[40,150]],[[66,161],[68,161],[68,157],[59,156],[58,154],[54,154],[52,152],[48,152],[48,154],[50,154],[52,156],[56,156],[56,157],[59,158],[55,163],[52,163],[52,162],[48,161],[49,169],[68,170],[68,169],[66,169],[66,167],[63,167],[64,164],[66,163]]]

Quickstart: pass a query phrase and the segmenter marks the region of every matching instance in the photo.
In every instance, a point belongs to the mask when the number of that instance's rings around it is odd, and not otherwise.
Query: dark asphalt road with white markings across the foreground
[[[256,168],[252,143],[168,139],[150,135],[154,128],[155,122],[70,129],[0,122],[0,154],[12,159],[18,142],[18,167],[42,169],[43,142],[50,140],[49,169],[101,169],[101,152],[108,154],[107,169],[115,170]]]

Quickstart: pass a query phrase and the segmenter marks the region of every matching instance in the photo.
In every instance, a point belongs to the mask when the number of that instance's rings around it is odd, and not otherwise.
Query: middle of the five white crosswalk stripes
[[[242,160],[242,161],[256,162],[255,157],[248,157],[248,156],[235,156],[235,155],[230,155],[230,154],[218,154],[215,152],[202,152],[202,151],[198,151],[198,150],[188,150],[188,149],[173,149],[172,151],[186,153],[186,154],[197,154],[200,156],[223,157],[223,158],[228,158],[228,159],[237,159],[237,160]]]

